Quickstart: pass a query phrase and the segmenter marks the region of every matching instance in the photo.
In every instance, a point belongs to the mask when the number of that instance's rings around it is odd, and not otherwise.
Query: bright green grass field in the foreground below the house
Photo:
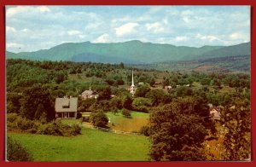
[[[82,135],[62,137],[8,133],[32,153],[34,161],[147,161],[148,139],[83,129]]]

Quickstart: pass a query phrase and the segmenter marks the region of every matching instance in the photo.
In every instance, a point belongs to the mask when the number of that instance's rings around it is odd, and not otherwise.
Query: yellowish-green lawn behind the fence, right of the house
[[[131,118],[124,118],[121,112],[114,115],[112,112],[107,113],[110,118],[108,126],[113,130],[127,132],[138,132],[143,126],[148,124],[149,114],[143,112],[131,112]]]

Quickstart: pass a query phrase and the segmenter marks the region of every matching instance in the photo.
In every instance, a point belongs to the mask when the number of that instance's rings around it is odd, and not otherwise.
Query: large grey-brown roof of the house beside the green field
[[[77,112],[78,111],[78,98],[56,98],[55,112]]]

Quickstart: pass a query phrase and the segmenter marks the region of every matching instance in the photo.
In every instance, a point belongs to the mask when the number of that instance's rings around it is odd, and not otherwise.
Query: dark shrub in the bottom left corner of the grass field
[[[18,141],[7,137],[7,159],[9,161],[32,161],[32,156]]]

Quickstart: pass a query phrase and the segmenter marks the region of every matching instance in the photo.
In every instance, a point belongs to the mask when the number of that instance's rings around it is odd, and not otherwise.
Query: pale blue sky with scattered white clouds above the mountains
[[[249,6],[7,6],[6,49],[140,40],[177,46],[250,41]]]

